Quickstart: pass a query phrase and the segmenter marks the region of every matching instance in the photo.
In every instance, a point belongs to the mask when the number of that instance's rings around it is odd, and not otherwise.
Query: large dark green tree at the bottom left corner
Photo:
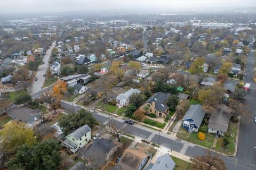
[[[10,169],[58,169],[61,157],[61,146],[57,141],[44,140],[32,146],[21,145],[7,162]]]

